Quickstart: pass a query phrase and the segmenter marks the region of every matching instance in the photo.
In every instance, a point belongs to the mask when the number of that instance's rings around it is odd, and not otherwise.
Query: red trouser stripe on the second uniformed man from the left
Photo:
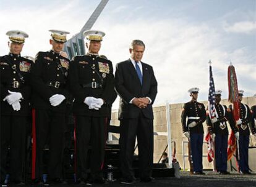
[[[35,109],[32,109],[32,180],[35,179],[36,165],[36,127],[35,127]]]

